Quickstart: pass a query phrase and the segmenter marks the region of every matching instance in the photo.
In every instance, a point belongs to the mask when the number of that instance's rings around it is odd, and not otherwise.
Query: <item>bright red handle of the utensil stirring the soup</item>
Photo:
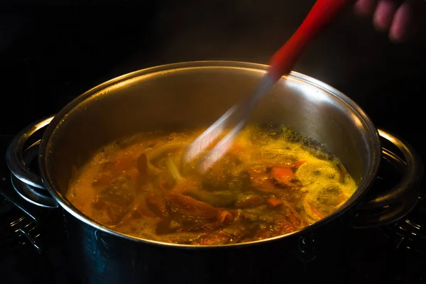
[[[349,0],[317,0],[297,31],[271,58],[269,74],[273,80],[291,72],[307,44],[349,3]]]

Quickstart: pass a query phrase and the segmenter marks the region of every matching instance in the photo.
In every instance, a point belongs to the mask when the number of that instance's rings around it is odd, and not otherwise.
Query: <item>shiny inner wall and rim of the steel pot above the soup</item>
[[[65,198],[68,182],[94,151],[116,138],[139,131],[175,131],[212,124],[258,84],[266,68],[246,62],[186,62],[133,72],[94,87],[67,104],[43,135],[38,161],[46,187],[76,222],[110,238],[202,250],[126,236],[94,222]],[[378,131],[362,109],[327,84],[292,72],[273,86],[249,121],[284,124],[323,143],[359,181],[359,187],[336,212],[300,231],[222,248],[265,244],[323,226],[359,203],[376,178],[381,160]],[[376,221],[381,224],[380,218]]]

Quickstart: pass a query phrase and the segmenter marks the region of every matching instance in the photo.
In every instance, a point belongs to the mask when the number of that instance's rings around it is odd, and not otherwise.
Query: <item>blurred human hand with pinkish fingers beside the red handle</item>
[[[355,11],[360,16],[373,15],[378,31],[387,31],[393,42],[403,42],[417,32],[420,18],[426,16],[419,15],[425,4],[421,0],[356,0]]]

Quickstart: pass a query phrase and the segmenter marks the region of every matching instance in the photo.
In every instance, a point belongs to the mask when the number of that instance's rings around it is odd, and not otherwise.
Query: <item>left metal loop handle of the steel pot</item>
[[[28,138],[36,131],[50,124],[53,116],[42,119],[35,124],[31,124],[18,133],[6,151],[6,163],[11,170],[11,180],[13,188],[28,202],[40,207],[56,208],[56,202],[50,195],[45,195],[40,191],[46,191],[45,185],[40,175],[36,175],[29,169],[31,160],[38,155],[40,140],[33,143],[24,150]],[[38,190],[41,189],[41,190]],[[47,193],[47,192],[46,192]]]

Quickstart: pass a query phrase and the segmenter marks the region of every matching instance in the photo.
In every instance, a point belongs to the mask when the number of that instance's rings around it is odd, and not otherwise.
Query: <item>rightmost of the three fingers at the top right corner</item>
[[[413,16],[413,7],[408,1],[405,1],[398,10],[396,10],[389,31],[389,38],[393,42],[398,43],[408,39],[410,28],[413,28]]]

